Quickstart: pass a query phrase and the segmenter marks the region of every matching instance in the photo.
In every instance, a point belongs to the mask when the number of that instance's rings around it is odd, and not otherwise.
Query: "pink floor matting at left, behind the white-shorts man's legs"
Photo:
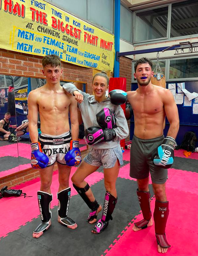
[[[76,167],[72,167],[71,176],[75,170]],[[89,185],[93,185],[101,179],[103,179],[103,173],[95,172],[89,175],[89,177],[86,178],[86,181]],[[77,192],[73,188],[71,180],[69,185],[71,187],[71,195],[76,195]],[[0,237],[6,236],[8,232],[18,229],[21,225],[25,225],[26,222],[31,221],[39,215],[37,191],[40,190],[40,179],[36,178],[32,181],[25,182],[24,184],[17,185],[14,189],[21,189],[24,193],[33,197],[10,197],[0,199],[1,211],[2,209],[6,209],[6,214],[2,214],[0,218]],[[58,171],[55,171],[51,185],[51,192],[53,194],[51,208],[58,205],[57,191]]]

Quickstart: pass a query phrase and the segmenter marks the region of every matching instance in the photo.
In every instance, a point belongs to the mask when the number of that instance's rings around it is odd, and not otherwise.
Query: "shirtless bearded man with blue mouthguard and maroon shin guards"
[[[174,158],[175,138],[179,130],[177,105],[168,89],[151,83],[152,62],[141,58],[136,62],[134,77],[138,89],[127,92],[134,112],[134,136],[130,151],[130,177],[137,179],[137,197],[143,220],[134,223],[133,231],[153,225],[148,189],[149,171],[156,197],[154,222],[158,252],[166,253],[170,247],[165,237],[168,219],[168,201],[165,192],[167,168]],[[165,116],[170,123],[167,137],[163,136]],[[153,159],[154,158],[154,159]]]

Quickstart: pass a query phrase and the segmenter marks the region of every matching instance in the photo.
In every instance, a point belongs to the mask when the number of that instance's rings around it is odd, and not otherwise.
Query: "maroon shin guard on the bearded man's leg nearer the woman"
[[[134,225],[137,228],[144,229],[144,228],[147,228],[147,224],[151,219],[150,192],[139,191],[139,189],[137,189],[137,198],[139,200],[144,219],[142,219],[141,221],[135,222]]]

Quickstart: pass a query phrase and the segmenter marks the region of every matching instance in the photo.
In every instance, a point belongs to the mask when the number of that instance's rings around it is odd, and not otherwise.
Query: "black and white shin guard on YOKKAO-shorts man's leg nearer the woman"
[[[75,221],[67,217],[70,196],[71,196],[70,187],[57,193],[57,198],[59,201],[58,216],[60,217],[61,223],[66,226],[73,226],[75,224]]]

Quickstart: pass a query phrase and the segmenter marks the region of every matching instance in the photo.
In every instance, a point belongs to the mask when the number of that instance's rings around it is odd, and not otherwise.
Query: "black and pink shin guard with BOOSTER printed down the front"
[[[115,209],[116,203],[117,198],[113,197],[113,195],[106,191],[104,206],[102,210],[102,217],[93,228],[93,231],[96,231],[97,233],[102,233],[103,231],[105,231],[105,229],[109,225],[109,220],[113,219],[112,213]]]

